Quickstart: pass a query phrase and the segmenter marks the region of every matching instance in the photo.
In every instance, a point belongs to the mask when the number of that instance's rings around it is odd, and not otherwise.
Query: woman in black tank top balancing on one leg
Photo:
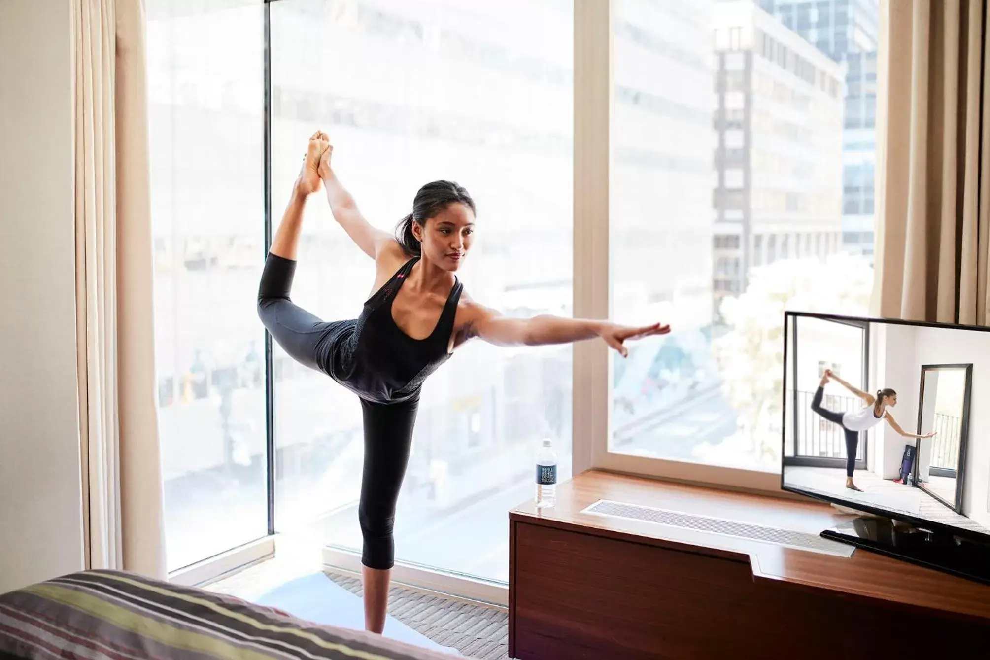
[[[397,236],[372,227],[331,166],[327,136],[309,141],[258,287],[258,316],[294,359],[322,371],[357,395],[364,425],[364,466],[357,518],[362,535],[364,625],[385,625],[394,563],[392,522],[413,437],[423,381],[472,337],[490,343],[543,345],[601,337],[628,354],[624,342],[669,332],[653,324],[628,328],[606,321],[539,316],[512,319],[471,300],[454,272],[474,239],[474,202],[449,181],[423,186]],[[334,219],[375,261],[371,295],[357,319],[324,322],[289,299],[303,209],[326,188]]]

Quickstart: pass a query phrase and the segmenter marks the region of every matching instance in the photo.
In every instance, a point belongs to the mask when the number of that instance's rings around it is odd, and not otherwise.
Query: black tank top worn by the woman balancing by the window
[[[333,344],[327,372],[362,399],[397,403],[416,397],[426,377],[450,357],[450,335],[462,289],[456,278],[430,336],[415,339],[392,319],[392,302],[417,261],[419,257],[404,263],[368,298],[356,321],[344,322],[343,331],[328,336]]]

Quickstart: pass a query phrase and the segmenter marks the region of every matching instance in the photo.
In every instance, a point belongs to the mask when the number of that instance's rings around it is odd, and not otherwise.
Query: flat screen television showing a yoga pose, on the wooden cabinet
[[[990,328],[787,312],[781,488],[822,535],[990,584]]]

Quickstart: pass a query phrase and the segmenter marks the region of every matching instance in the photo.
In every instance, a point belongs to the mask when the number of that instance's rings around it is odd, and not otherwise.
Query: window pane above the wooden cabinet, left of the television
[[[783,17],[801,5],[774,3]],[[842,174],[872,185],[874,138],[843,134],[843,113],[873,100],[842,97],[849,53],[755,5],[614,7],[612,316],[673,331],[616,359],[610,450],[775,471],[784,310],[866,313],[872,243],[841,236],[872,236],[872,209],[843,215]],[[875,42],[865,8],[857,29]],[[729,112],[746,121],[710,119]]]

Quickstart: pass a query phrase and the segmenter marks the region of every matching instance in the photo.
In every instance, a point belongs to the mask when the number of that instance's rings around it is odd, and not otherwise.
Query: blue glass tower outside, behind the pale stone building
[[[759,5],[845,66],[842,247],[872,261],[877,0],[759,0]]]

